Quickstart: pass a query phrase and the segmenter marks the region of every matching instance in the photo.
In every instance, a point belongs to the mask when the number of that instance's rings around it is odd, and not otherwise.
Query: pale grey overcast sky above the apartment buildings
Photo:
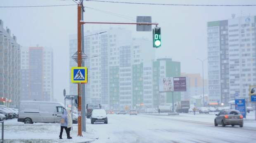
[[[112,0],[172,4],[256,4],[255,0]],[[68,5],[72,0],[1,0],[0,6]],[[202,73],[197,58],[207,58],[207,22],[238,16],[256,15],[256,7],[184,7],[130,5],[84,2],[85,21],[135,22],[136,16],[152,16],[161,27],[162,46],[156,58],[168,57],[181,62],[181,71]],[[107,12],[114,14],[109,14]],[[116,16],[120,14],[123,16]],[[69,93],[69,35],[76,34],[77,7],[0,8],[4,27],[11,29],[21,46],[52,47],[54,52],[54,97],[63,101],[62,91]],[[151,32],[136,32],[135,25],[85,25],[85,30],[122,27],[133,31],[134,37],[152,38]],[[150,48],[149,48],[150,50]],[[207,62],[204,64],[207,78]]]

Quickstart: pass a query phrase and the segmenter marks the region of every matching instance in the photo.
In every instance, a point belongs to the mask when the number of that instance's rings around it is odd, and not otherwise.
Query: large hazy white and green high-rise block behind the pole
[[[101,31],[100,31],[101,32]],[[85,85],[86,103],[101,103],[105,108],[132,107],[133,64],[154,59],[152,43],[143,38],[132,38],[131,31],[109,29],[102,34],[87,31],[85,35],[85,66],[88,83]],[[76,52],[76,36],[70,36],[70,56]],[[152,52],[148,52],[151,48]],[[70,59],[70,67],[76,63]],[[76,86],[70,84],[76,93]]]

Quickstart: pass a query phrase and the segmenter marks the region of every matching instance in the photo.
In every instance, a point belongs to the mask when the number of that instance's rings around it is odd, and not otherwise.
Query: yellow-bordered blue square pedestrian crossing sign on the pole
[[[71,68],[72,83],[87,83],[87,67],[72,67]]]

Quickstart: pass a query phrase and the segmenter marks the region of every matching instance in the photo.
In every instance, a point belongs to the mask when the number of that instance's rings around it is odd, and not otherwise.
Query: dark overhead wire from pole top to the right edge
[[[138,5],[167,5],[167,6],[204,6],[204,7],[250,7],[256,5],[199,5],[199,4],[164,4],[164,3],[142,3],[142,2],[117,2],[105,0],[86,0],[91,2],[108,2],[108,3],[123,3],[123,4],[138,4]]]

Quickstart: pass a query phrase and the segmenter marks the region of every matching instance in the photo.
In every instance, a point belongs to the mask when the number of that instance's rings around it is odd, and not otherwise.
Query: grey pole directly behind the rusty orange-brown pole
[[[82,6],[83,6],[83,0],[81,0],[81,3],[82,3]],[[81,7],[83,8],[83,7]],[[81,10],[81,19],[83,21],[83,9]],[[85,52],[85,49],[84,49],[84,30],[83,30],[83,24],[81,25],[81,30],[82,30],[82,33],[81,33],[81,37],[82,37],[82,52],[84,53]],[[85,63],[82,61],[82,66],[85,67]],[[85,108],[85,84],[82,84],[82,131],[86,131],[86,117],[85,117],[85,111],[86,111],[86,108]]]

